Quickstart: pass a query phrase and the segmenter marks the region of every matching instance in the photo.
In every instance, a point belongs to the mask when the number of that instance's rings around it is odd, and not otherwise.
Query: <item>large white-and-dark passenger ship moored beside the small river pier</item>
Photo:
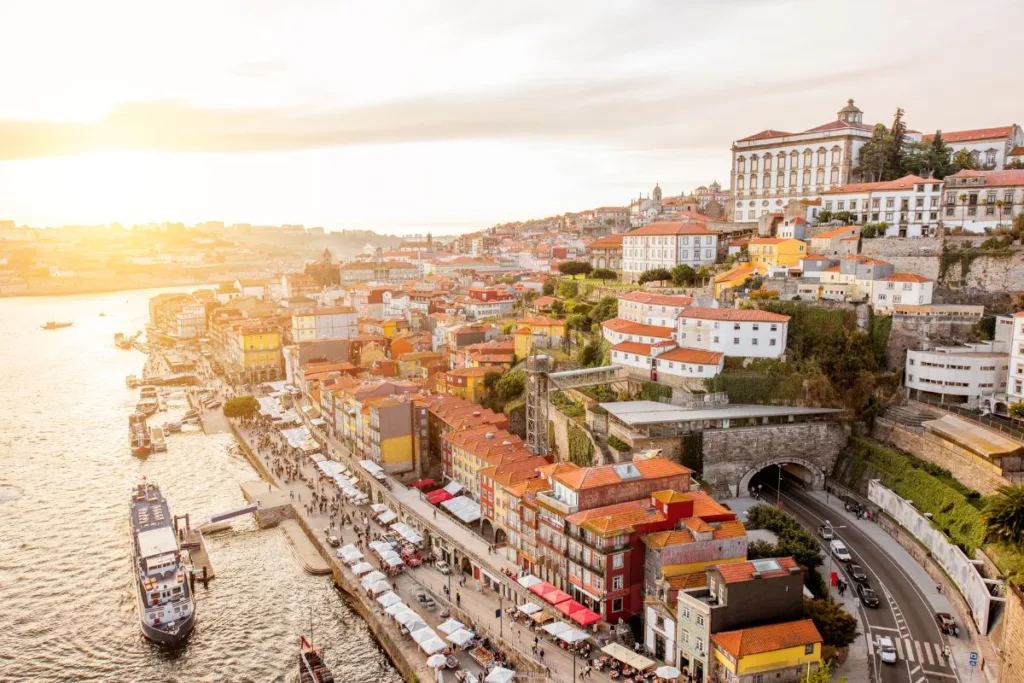
[[[196,600],[170,507],[156,484],[135,486],[130,521],[142,635],[164,645],[180,643],[196,625]]]

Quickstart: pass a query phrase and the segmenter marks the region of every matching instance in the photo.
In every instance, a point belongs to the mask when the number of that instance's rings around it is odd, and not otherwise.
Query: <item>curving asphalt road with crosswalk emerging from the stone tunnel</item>
[[[771,500],[775,498],[777,479],[774,476],[767,476],[766,479],[763,492],[765,498]],[[882,680],[886,683],[956,681],[954,670],[941,654],[946,638],[939,631],[935,613],[925,596],[925,591],[934,591],[935,586],[915,583],[900,566],[899,560],[891,557],[858,526],[870,522],[843,520],[836,510],[807,496],[800,486],[787,483],[785,479],[782,480],[782,503],[784,509],[814,532],[822,544],[825,561],[821,571],[826,581],[826,572],[837,570],[849,584],[848,590],[856,590],[856,582],[850,578],[845,563],[831,557],[827,542],[817,533],[818,527],[828,520],[833,522],[836,538],[846,545],[852,561],[863,567],[867,584],[879,594],[879,607],[861,604],[860,609],[870,636],[868,652],[874,658],[876,670],[881,672]],[[882,636],[889,636],[896,645],[898,660],[895,665],[882,664],[878,658],[874,643]]]

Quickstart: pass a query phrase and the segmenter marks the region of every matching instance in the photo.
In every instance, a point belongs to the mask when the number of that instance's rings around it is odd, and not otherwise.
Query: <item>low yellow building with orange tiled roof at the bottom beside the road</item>
[[[809,618],[711,637],[717,678],[725,683],[790,683],[821,663],[821,634]]]

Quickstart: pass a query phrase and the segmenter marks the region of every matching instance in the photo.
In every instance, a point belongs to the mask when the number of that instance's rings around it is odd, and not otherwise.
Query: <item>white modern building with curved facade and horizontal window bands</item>
[[[946,402],[969,402],[1000,393],[1007,386],[1008,350],[999,341],[907,349],[906,388]],[[1020,377],[1024,380],[1024,375]]]

